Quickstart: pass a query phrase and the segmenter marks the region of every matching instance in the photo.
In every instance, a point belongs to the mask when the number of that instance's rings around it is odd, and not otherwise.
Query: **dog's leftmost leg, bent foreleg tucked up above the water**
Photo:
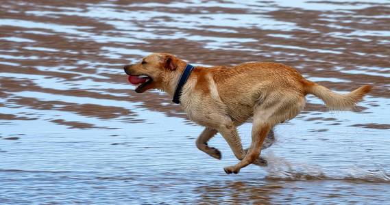
[[[206,154],[214,157],[215,159],[221,159],[221,152],[217,148],[210,148],[207,145],[208,140],[214,137],[218,131],[213,128],[204,128],[204,131],[197,137],[196,146],[199,150],[202,150]]]

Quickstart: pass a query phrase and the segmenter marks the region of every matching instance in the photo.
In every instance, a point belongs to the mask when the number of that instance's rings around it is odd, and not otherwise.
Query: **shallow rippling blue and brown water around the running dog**
[[[1,204],[389,202],[389,1],[1,2]],[[217,161],[167,95],[127,83],[123,65],[158,51],[375,89],[345,112],[308,96],[275,128],[269,166],[228,176],[237,161],[221,136]]]

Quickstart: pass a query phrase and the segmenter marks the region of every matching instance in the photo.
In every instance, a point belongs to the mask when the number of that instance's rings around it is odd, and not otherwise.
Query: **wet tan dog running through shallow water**
[[[186,61],[169,53],[153,53],[139,64],[125,66],[133,84],[141,84],[136,92],[159,89],[171,97],[186,67]],[[180,96],[180,105],[188,118],[206,128],[197,138],[199,150],[221,159],[221,153],[210,148],[207,141],[221,133],[237,159],[225,167],[227,174],[261,163],[259,154],[263,141],[273,126],[291,120],[305,105],[306,94],[314,94],[329,109],[351,109],[371,90],[364,85],[349,94],[337,94],[308,81],[294,68],[271,62],[251,62],[238,66],[196,66]],[[252,143],[243,150],[236,127],[253,117]]]

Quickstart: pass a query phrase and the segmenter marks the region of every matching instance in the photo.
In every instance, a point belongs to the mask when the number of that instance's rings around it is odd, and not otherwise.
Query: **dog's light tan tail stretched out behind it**
[[[321,100],[324,100],[326,107],[331,110],[352,109],[372,89],[372,85],[363,85],[348,94],[338,94],[322,85],[307,80],[304,82],[304,87],[306,93],[313,94],[321,98]]]

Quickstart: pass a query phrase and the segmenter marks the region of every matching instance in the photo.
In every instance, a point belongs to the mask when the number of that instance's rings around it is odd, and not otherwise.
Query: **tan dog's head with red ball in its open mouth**
[[[184,61],[169,53],[152,53],[143,57],[138,64],[124,67],[129,81],[136,87],[136,92],[141,93],[149,89],[164,89],[164,80],[169,73],[175,72]]]

